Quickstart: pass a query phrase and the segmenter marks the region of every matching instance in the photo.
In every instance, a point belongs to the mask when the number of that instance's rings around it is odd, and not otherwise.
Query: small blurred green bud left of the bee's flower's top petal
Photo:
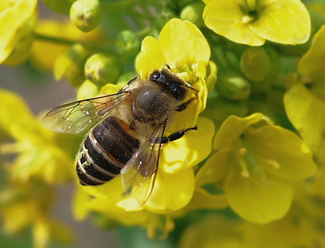
[[[140,40],[130,30],[121,31],[116,38],[115,49],[121,56],[132,58],[140,51]]]

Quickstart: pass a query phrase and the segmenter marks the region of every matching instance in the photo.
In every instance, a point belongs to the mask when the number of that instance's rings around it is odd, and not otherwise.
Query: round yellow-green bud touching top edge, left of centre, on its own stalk
[[[98,0],[77,0],[70,9],[71,22],[81,31],[96,28],[102,19],[102,9]]]

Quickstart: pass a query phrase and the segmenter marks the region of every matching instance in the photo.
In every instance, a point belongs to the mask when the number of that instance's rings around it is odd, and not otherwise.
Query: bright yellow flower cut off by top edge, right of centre
[[[310,17],[300,0],[203,0],[205,24],[237,43],[262,46],[266,40],[282,44],[305,43]]]

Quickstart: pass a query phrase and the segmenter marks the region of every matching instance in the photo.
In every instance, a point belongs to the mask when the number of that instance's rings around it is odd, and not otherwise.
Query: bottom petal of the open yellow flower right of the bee
[[[271,176],[232,173],[224,185],[230,206],[243,219],[265,224],[281,219],[289,210],[291,187]]]

